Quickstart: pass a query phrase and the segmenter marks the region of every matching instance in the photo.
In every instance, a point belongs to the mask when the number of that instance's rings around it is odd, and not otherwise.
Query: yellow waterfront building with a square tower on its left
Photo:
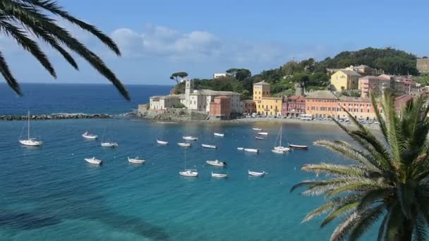
[[[271,97],[270,84],[261,81],[253,84],[253,101],[256,112],[265,116],[282,115],[282,98]]]

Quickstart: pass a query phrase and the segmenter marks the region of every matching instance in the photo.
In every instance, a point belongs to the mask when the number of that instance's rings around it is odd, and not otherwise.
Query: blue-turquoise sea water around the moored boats
[[[23,147],[18,138],[25,121],[0,122],[0,240],[329,240],[333,222],[320,228],[322,217],[303,217],[325,202],[289,192],[312,173],[305,163],[350,163],[315,140],[349,140],[334,125],[301,123],[156,123],[122,116],[168,94],[171,86],[128,85],[131,101],[111,85],[23,84],[16,97],[0,84],[0,115],[109,113],[111,119],[31,121],[30,133],[42,147]],[[271,152],[280,125],[283,142],[306,144],[308,150]],[[252,128],[269,132],[255,140]],[[85,130],[117,142],[100,147],[84,140]],[[223,132],[224,137],[215,137]],[[183,135],[198,137],[192,147],[179,147]],[[156,140],[168,141],[159,146]],[[201,144],[218,149],[203,149]],[[237,147],[260,149],[259,154]],[[95,156],[102,166],[84,161]],[[127,157],[145,159],[144,165]],[[226,161],[226,168],[206,160]],[[198,178],[179,175],[198,170]],[[265,171],[250,177],[250,171]],[[227,173],[214,179],[211,172]],[[362,240],[374,240],[377,227]]]

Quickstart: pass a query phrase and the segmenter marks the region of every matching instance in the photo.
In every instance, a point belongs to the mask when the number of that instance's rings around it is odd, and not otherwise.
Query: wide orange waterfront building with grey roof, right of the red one
[[[306,96],[306,114],[313,118],[337,116],[339,97],[329,90],[309,92]]]

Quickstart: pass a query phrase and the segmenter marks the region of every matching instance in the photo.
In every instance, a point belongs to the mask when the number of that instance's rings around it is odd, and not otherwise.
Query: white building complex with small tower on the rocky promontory
[[[150,97],[150,110],[172,108],[174,104],[183,104],[193,111],[210,112],[210,102],[214,97],[226,96],[231,99],[231,113],[243,113],[243,102],[240,94],[230,91],[215,91],[211,89],[193,89],[192,81],[185,80],[185,94]]]

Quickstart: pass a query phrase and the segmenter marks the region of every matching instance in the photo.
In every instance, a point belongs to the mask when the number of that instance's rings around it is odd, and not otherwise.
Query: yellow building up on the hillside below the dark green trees
[[[331,75],[331,90],[342,91],[358,89],[360,77],[361,75],[354,70],[338,70]]]

